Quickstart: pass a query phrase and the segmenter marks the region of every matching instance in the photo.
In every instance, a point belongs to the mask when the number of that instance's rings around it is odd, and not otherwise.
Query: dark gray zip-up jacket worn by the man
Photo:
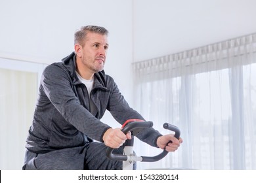
[[[45,68],[41,77],[39,97],[33,123],[29,129],[26,148],[31,152],[45,153],[62,148],[83,146],[90,139],[102,142],[109,125],[100,122],[106,110],[123,124],[131,118],[142,116],[129,107],[119,92],[113,78],[104,71],[95,73],[91,95],[75,73],[75,54]],[[96,105],[96,114],[90,112],[89,97]],[[152,146],[160,137],[153,128],[137,137]]]

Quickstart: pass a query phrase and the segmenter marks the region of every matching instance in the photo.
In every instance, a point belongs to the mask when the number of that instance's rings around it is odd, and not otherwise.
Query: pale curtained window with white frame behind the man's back
[[[45,66],[0,57],[0,169],[22,169],[38,81]]]

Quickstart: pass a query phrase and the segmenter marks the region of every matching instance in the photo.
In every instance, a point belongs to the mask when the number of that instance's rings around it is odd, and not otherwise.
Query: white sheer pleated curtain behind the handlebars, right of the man
[[[256,169],[256,34],[133,64],[136,108],[177,152],[139,169]],[[137,154],[159,150],[136,141]]]

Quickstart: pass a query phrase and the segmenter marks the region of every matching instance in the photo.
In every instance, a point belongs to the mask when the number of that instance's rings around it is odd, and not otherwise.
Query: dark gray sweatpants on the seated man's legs
[[[115,149],[122,154],[123,148]],[[106,146],[101,142],[88,142],[85,146],[54,150],[45,154],[26,151],[26,170],[114,170],[122,169],[122,161],[112,161],[106,157]]]

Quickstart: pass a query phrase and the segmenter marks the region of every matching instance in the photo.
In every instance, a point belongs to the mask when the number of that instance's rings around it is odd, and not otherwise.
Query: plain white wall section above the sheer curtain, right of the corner
[[[133,8],[134,61],[256,32],[255,0],[139,0]]]

